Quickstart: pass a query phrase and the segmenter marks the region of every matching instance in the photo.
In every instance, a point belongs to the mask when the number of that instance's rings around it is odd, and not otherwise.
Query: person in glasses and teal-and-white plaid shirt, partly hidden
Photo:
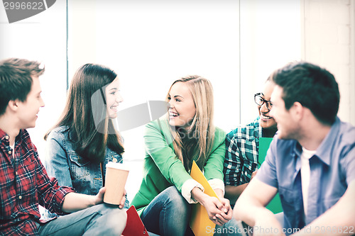
[[[259,116],[252,123],[232,130],[226,135],[224,184],[226,198],[236,202],[258,167],[259,137],[273,137],[277,131],[275,120],[269,115],[273,106],[270,97],[274,84],[268,77],[263,92],[254,95]]]

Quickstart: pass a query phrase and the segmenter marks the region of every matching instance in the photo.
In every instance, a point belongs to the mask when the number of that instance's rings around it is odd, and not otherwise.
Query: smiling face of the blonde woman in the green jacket
[[[169,124],[182,128],[190,127],[190,121],[195,117],[196,108],[192,93],[187,83],[173,84],[168,94]]]

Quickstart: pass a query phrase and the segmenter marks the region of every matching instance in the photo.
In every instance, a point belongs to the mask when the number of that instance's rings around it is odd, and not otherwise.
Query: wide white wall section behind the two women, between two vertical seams
[[[199,74],[214,87],[215,124],[239,123],[239,1],[75,0],[69,6],[69,74],[87,62],[114,69],[121,109],[164,100],[173,81]],[[143,128],[122,133],[129,200],[142,179]]]

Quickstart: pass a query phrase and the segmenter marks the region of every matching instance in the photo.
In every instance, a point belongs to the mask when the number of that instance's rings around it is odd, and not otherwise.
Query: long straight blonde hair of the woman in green
[[[215,128],[213,124],[214,101],[212,84],[208,79],[204,79],[198,75],[182,77],[181,79],[173,82],[173,84],[170,86],[165,101],[168,101],[171,88],[178,82],[182,82],[187,85],[191,91],[193,101],[195,103],[196,114],[192,119],[190,126],[191,128],[186,131],[187,135],[190,138],[192,137],[195,139],[197,142],[195,143],[195,148],[193,150],[186,150],[178,129],[172,129],[170,126],[170,132],[173,135],[173,147],[176,156],[184,164],[187,171],[191,168],[192,163],[185,163],[188,160],[186,159],[186,155],[189,157],[197,156],[195,162],[200,167],[200,169],[202,169],[209,153],[212,150],[212,145],[214,142]],[[192,159],[190,160],[192,161]]]

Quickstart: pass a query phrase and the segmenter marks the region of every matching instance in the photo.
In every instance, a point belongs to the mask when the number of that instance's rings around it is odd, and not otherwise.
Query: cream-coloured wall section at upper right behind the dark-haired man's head
[[[355,125],[355,1],[302,0],[302,12],[302,59],[334,74],[338,115]]]

